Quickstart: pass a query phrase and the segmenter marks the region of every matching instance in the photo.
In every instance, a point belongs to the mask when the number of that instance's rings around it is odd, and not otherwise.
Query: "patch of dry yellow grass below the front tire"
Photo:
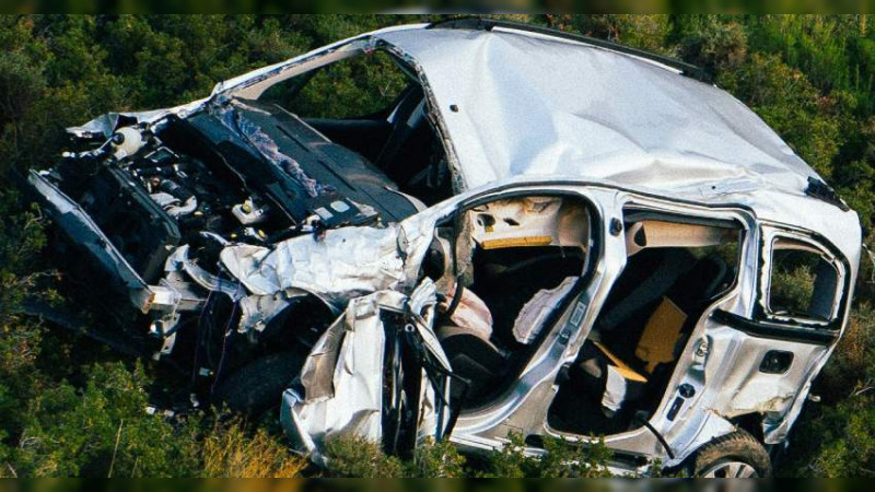
[[[264,429],[246,431],[243,422],[215,424],[203,442],[203,476],[235,478],[298,477],[306,458]]]

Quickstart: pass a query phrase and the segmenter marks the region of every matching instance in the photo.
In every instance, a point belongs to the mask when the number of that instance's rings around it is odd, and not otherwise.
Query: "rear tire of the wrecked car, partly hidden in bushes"
[[[696,452],[690,471],[693,477],[734,478],[772,475],[772,464],[762,444],[738,430],[718,437]]]

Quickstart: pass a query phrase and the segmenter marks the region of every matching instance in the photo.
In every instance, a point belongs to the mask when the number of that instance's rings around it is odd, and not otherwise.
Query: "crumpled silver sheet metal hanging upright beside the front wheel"
[[[281,421],[295,446],[326,465],[327,440],[357,436],[380,442],[383,436],[386,330],[382,313],[407,312],[427,351],[450,364],[432,331],[436,295],[425,281],[407,297],[381,291],[349,302],[345,313],[328,328],[304,363],[296,384],[282,396]],[[435,388],[422,371],[418,438],[439,435],[442,406]],[[448,391],[448,383],[438,394]]]

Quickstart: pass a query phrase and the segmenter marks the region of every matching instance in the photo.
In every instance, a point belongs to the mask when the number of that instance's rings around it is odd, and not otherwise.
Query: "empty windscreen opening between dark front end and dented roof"
[[[441,139],[418,78],[395,56],[361,51],[282,81],[259,102],[300,117],[334,143],[359,153],[400,191],[433,204],[453,195]],[[350,107],[365,107],[350,114]]]

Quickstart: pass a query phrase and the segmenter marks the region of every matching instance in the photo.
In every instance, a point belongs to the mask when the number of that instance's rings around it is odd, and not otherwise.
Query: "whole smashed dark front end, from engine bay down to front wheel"
[[[153,358],[194,364],[206,379],[223,364],[310,345],[336,316],[326,297],[296,289],[247,295],[223,250],[282,250],[295,238],[318,249],[329,231],[380,235],[424,207],[276,105],[234,99],[148,124],[119,116],[110,134],[75,143],[28,178],[67,236],[56,242],[59,258],[84,258],[65,266],[71,291],[144,337]],[[385,234],[393,250],[394,234]],[[293,342],[264,343],[287,325],[296,327]],[[223,358],[232,331],[260,342]]]

